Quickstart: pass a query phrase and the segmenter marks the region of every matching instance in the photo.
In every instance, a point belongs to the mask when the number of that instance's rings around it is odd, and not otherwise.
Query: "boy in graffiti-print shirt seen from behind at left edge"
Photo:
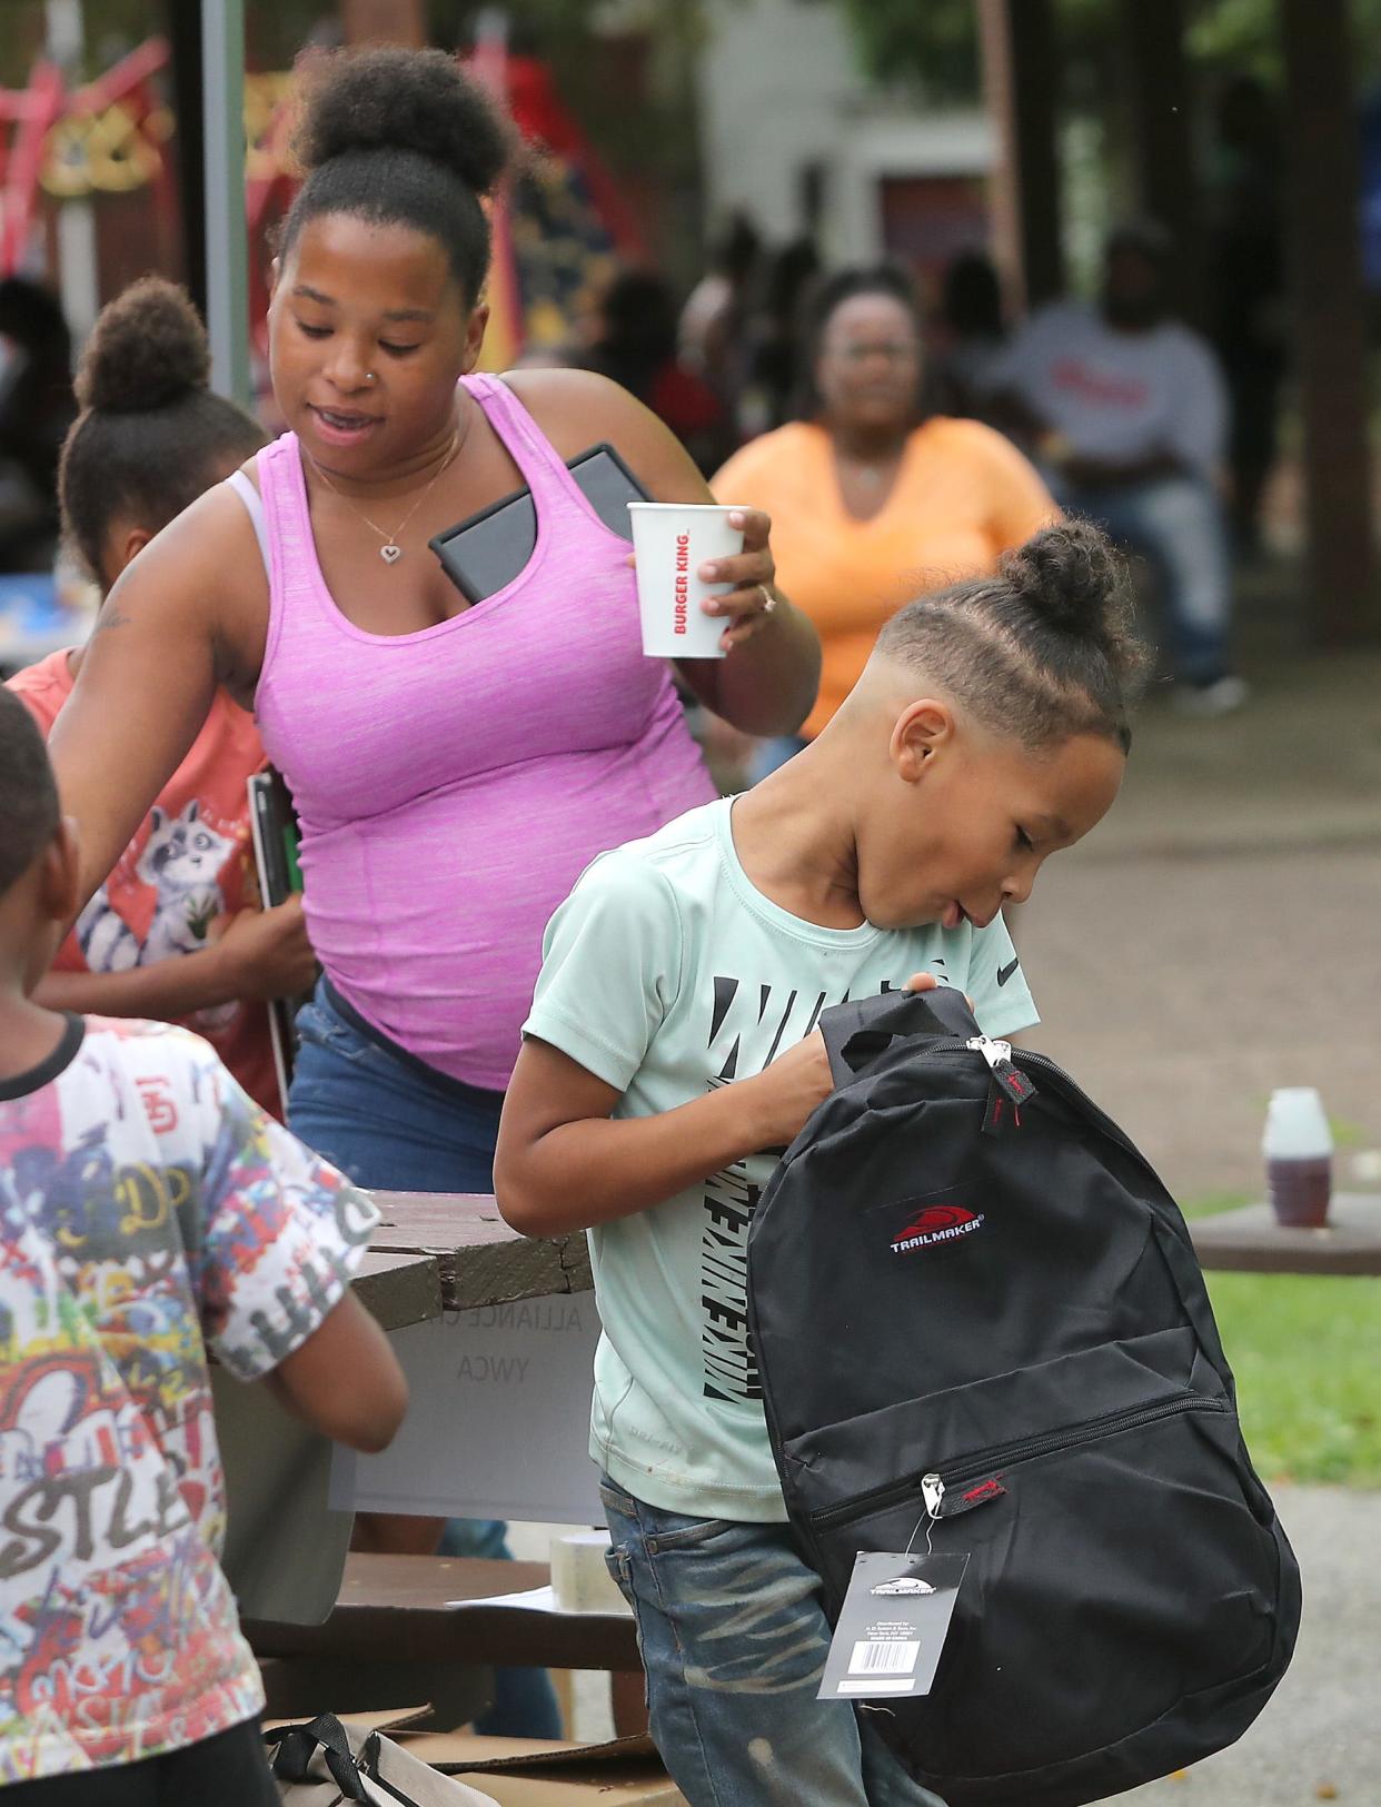
[[[199,1037],[31,999],[76,885],[43,741],[0,688],[0,1789],[271,1807],[206,1344],[381,1449],[407,1386],[349,1290],[378,1211]]]

